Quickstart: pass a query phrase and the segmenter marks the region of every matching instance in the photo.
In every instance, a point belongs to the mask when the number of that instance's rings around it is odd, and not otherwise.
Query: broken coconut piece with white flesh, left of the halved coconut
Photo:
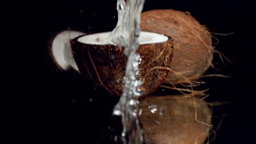
[[[57,34],[51,43],[50,54],[55,64],[62,70],[75,69],[78,72],[78,67],[73,59],[70,47],[70,40],[80,35],[85,35],[83,32],[63,31]]]

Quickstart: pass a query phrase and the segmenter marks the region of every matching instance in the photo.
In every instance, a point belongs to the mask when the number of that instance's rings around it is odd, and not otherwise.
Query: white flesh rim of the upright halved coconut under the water
[[[91,44],[91,45],[109,45],[107,37],[111,32],[102,32],[91,35],[85,35],[77,39],[80,43]],[[141,32],[139,35],[139,44],[152,44],[152,43],[163,43],[168,40],[165,35],[160,35],[154,32]]]

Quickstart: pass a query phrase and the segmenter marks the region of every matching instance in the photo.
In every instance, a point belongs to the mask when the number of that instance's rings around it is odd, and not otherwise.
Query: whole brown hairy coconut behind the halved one
[[[211,34],[188,12],[171,9],[146,11],[141,13],[141,30],[164,34],[174,40],[173,71],[165,83],[197,80],[212,64]]]

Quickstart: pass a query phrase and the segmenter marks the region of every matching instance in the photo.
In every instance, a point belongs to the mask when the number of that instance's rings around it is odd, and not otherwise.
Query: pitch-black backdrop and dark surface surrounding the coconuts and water
[[[254,141],[253,6],[249,0],[145,0],[143,11],[167,8],[189,11],[211,32],[235,32],[227,36],[215,35],[219,44],[214,45],[233,63],[225,61],[224,67],[219,56],[214,55],[219,71],[209,69],[206,72],[231,78],[203,79],[206,82],[203,87],[211,88],[206,101],[229,101],[214,108],[214,116],[225,117],[213,144],[251,144]],[[16,35],[22,35],[21,44],[15,46],[19,59],[13,56],[14,76],[8,88],[11,104],[6,107],[11,123],[8,127],[11,143],[107,144],[113,142],[112,136],[120,133],[118,117],[110,117],[117,99],[99,88],[95,90],[94,85],[86,85],[79,75],[59,71],[47,54],[48,40],[61,29],[69,27],[88,33],[112,30],[117,22],[115,7],[115,0],[16,3],[15,17],[9,19],[15,25],[13,29],[17,29]],[[10,61],[12,68],[14,62]],[[161,90],[156,94],[170,94]]]

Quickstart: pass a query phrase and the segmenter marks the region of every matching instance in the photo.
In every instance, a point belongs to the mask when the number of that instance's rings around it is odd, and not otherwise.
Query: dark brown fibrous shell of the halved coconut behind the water
[[[114,45],[90,45],[71,40],[73,56],[83,77],[88,75],[93,81],[113,96],[123,93],[123,77],[127,56],[124,48]],[[171,67],[173,40],[171,37],[163,43],[140,45],[136,53],[141,56],[139,77],[143,81],[143,94],[139,100],[154,92],[168,75],[166,67]]]

